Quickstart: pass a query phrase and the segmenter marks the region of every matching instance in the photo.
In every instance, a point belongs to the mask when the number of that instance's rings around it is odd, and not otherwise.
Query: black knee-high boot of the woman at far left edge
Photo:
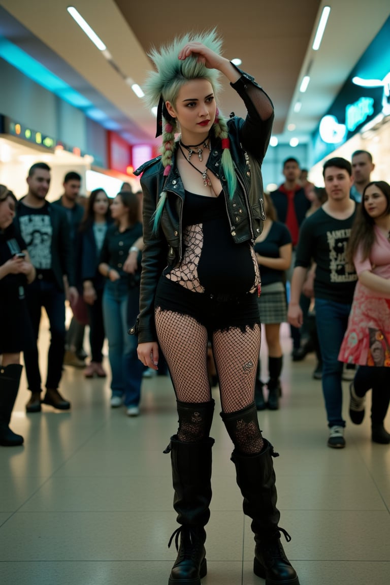
[[[21,374],[22,366],[20,364],[0,367],[0,445],[4,447],[13,447],[23,443],[22,435],[16,435],[8,426],[18,394]]]

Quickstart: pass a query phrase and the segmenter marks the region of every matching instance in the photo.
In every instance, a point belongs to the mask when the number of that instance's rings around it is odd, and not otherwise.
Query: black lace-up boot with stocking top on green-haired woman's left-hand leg
[[[186,424],[198,427],[199,418],[202,418],[203,422],[206,420],[207,434],[195,442],[179,441],[178,435],[174,435],[165,450],[171,452],[175,492],[173,505],[181,525],[172,534],[168,544],[170,546],[175,537],[178,555],[171,570],[169,585],[200,585],[207,572],[204,526],[210,518],[212,495],[211,451],[214,439],[208,436],[208,432],[213,408],[214,401],[198,405],[178,402],[180,431],[185,433]]]

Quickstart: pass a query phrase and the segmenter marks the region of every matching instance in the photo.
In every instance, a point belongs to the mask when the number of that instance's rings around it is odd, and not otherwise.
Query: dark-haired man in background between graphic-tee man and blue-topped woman
[[[70,251],[73,256],[76,283],[81,287],[81,283],[79,283],[80,259],[77,254],[78,232],[82,219],[84,218],[84,207],[80,203],[77,203],[80,194],[81,175],[75,171],[69,171],[65,174],[63,187],[63,195],[54,201],[53,204],[60,205],[67,215],[70,225]],[[66,366],[85,367],[84,360],[87,357],[87,353],[83,348],[84,331],[85,325],[77,321],[75,316],[73,316],[65,338],[64,364]]]

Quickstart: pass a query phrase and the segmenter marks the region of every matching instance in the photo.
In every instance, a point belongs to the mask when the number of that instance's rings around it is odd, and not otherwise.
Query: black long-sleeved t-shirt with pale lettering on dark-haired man
[[[317,264],[315,298],[352,302],[357,275],[346,261],[346,248],[355,215],[356,209],[347,219],[334,219],[320,208],[302,223],[295,266]]]

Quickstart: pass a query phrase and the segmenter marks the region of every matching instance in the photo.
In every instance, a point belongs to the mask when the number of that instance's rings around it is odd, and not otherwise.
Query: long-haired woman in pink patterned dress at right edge
[[[347,260],[358,275],[339,360],[358,364],[350,384],[350,418],[360,425],[372,388],[372,441],[390,443],[384,419],[390,401],[390,185],[368,183],[351,230]]]

